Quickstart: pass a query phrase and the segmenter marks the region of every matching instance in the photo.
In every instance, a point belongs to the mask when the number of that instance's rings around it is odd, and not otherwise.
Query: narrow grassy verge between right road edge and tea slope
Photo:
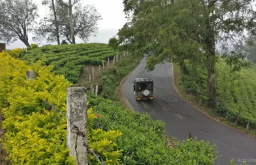
[[[177,89],[177,92],[183,97],[185,101],[192,104],[193,107],[204,113],[205,115],[211,117],[211,119],[214,119],[218,121],[219,123],[222,123],[224,125],[227,125],[228,127],[232,129],[236,129],[238,131],[241,131],[243,133],[247,133],[249,135],[252,135],[256,138],[256,131],[255,130],[247,130],[239,125],[236,125],[228,120],[226,120],[224,117],[220,117],[214,113],[214,109],[211,107],[208,107],[207,105],[203,104],[201,99],[199,97],[196,97],[195,95],[188,94],[185,92],[185,89],[183,87],[183,84],[181,83],[181,69],[178,65],[173,64],[173,73],[174,73],[174,85]]]

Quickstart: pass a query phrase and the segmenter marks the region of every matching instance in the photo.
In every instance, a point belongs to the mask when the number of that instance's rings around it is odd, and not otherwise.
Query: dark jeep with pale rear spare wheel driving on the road
[[[133,92],[136,100],[153,100],[153,80],[150,78],[135,78]]]

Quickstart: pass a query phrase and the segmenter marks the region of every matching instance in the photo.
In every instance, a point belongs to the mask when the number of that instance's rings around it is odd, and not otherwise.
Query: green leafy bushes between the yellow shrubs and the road
[[[153,121],[149,115],[131,112],[115,101],[90,95],[90,103],[101,118],[97,127],[103,130],[118,129],[122,136],[117,140],[123,150],[123,164],[214,164],[218,153],[215,146],[203,141],[186,140],[169,147],[165,124]]]

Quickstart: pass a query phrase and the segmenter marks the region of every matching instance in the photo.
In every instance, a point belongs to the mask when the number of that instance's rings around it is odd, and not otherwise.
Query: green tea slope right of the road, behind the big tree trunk
[[[179,85],[187,94],[195,96],[197,102],[206,105],[208,100],[207,70],[204,66],[195,66],[189,61],[186,61],[185,65],[189,74],[180,75]],[[179,69],[177,67],[176,70]],[[215,115],[224,117],[228,122],[242,128],[246,128],[249,122],[250,128],[256,129],[256,111],[254,108],[256,105],[256,70],[251,68],[242,69],[241,72],[231,72],[230,66],[224,62],[223,58],[220,58],[216,64],[215,75],[218,96]],[[241,113],[239,115],[240,106]]]

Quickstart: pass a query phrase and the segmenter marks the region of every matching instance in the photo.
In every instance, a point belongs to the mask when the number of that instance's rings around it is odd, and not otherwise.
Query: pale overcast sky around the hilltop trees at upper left
[[[40,18],[44,17],[47,8],[41,5],[42,0],[33,0],[33,2],[37,3],[38,5],[38,14],[40,15]],[[82,0],[83,5],[94,5],[98,13],[100,13],[103,18],[98,22],[98,34],[96,34],[96,37],[90,37],[88,42],[107,43],[109,38],[117,34],[118,29],[121,29],[126,22],[125,13],[123,13],[122,2],[122,0]],[[43,41],[42,43],[34,42],[32,40],[32,35],[33,34],[29,34],[30,44],[36,43],[40,46],[47,44],[46,41]],[[77,44],[82,42],[82,40],[76,39]],[[53,44],[57,44],[57,42]],[[26,46],[19,40],[6,45],[6,49],[14,48],[26,48]]]

